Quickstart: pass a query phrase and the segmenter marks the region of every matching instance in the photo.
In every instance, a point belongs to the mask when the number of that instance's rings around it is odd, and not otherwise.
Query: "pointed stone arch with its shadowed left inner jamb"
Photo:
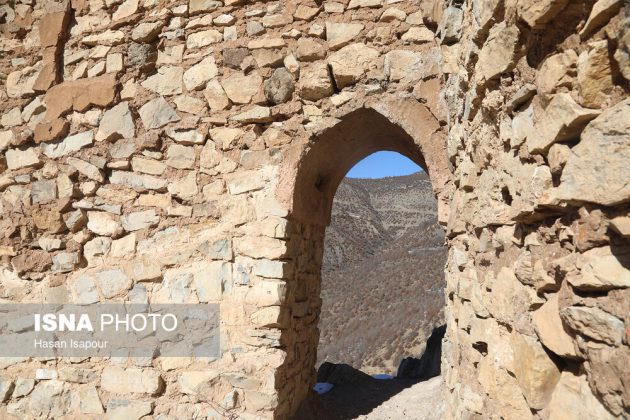
[[[439,222],[445,225],[448,220],[445,138],[424,105],[382,97],[340,114],[287,153],[276,192],[289,209],[292,232],[283,259],[293,262],[284,305],[288,327],[281,337],[287,357],[276,377],[282,384],[276,414],[282,418],[297,409],[315,381],[324,234],[335,192],[348,170],[374,152],[398,152],[428,173],[438,198]]]

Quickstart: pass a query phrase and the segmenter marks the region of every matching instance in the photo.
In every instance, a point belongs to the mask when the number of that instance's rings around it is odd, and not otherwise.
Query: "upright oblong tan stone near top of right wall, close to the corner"
[[[479,53],[477,66],[486,80],[493,79],[510,69],[520,37],[516,25],[500,23],[490,29],[490,35]]]

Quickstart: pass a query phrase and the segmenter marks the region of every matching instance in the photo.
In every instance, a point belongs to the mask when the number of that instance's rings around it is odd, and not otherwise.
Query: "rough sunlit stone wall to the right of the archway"
[[[620,1],[455,3],[450,414],[627,416],[630,21]]]

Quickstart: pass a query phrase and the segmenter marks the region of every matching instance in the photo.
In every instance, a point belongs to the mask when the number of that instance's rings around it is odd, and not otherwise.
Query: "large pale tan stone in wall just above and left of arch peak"
[[[365,44],[351,44],[328,57],[339,89],[357,83],[373,65],[379,53]]]

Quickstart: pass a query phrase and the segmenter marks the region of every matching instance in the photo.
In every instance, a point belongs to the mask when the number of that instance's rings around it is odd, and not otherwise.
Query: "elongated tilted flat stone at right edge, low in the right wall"
[[[562,319],[578,334],[614,346],[621,345],[624,324],[619,318],[599,308],[570,306],[560,310]]]

